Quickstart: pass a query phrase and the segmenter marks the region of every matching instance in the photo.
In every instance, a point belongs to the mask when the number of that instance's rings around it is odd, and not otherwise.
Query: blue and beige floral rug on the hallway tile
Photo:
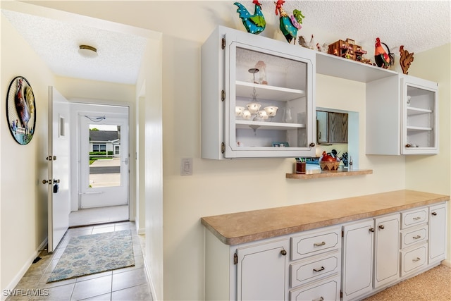
[[[130,230],[73,237],[47,283],[134,265]]]

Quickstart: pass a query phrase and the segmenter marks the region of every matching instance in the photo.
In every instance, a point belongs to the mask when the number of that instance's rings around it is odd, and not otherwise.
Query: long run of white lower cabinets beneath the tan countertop
[[[206,231],[206,300],[362,300],[445,259],[447,202],[225,245]]]

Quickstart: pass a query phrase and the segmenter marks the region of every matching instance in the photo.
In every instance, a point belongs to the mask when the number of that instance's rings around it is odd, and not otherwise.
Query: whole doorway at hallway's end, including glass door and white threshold
[[[129,108],[78,103],[73,109],[77,197],[69,226],[129,221]]]

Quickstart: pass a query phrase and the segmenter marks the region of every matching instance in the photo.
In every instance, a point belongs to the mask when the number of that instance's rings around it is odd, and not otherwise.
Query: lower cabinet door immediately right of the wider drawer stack
[[[343,226],[342,300],[373,289],[373,219]]]

